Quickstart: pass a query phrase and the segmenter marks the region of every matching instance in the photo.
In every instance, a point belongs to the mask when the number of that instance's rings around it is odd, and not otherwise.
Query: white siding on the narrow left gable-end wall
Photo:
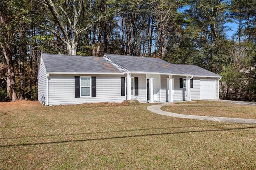
[[[42,95],[44,95],[45,99],[46,96],[46,68],[44,65],[44,61],[41,57],[40,59],[40,66],[38,70],[38,101],[41,101]]]

